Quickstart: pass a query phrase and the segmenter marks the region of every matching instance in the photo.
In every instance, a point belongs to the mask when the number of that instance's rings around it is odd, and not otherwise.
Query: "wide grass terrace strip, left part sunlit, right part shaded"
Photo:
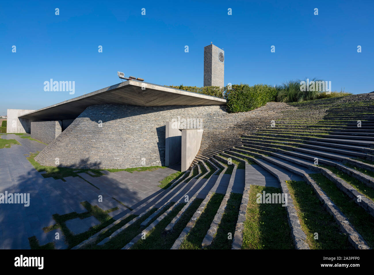
[[[243,230],[242,249],[293,249],[286,208],[281,204],[257,204],[257,193],[281,193],[281,189],[251,185]]]

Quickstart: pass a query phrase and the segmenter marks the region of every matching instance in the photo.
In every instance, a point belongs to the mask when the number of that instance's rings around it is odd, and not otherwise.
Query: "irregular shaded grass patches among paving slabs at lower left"
[[[108,215],[108,213],[118,210],[118,207],[114,207],[114,208],[111,208],[111,209],[108,209],[108,210],[104,211],[96,205],[92,206],[87,201],[81,202],[81,204],[87,209],[86,212],[79,213],[79,214],[76,213],[76,212],[72,212],[72,213],[68,213],[68,214],[64,214],[64,215],[54,214],[54,215],[52,215],[52,217],[53,217],[53,219],[55,220],[56,223],[51,225],[51,226],[47,226],[47,227],[43,228],[45,233],[60,228],[62,233],[65,236],[65,240],[68,244],[68,249],[76,246],[77,244],[80,244],[80,242],[88,239],[89,237],[91,237],[96,232],[99,232],[104,227],[113,223],[114,219],[112,217],[110,217]],[[68,221],[68,220],[75,219],[75,218],[85,219],[85,218],[88,218],[88,217],[91,217],[91,216],[94,216],[98,221],[100,221],[100,224],[98,224],[96,226],[92,226],[86,232],[74,235],[68,229],[68,227],[66,226],[66,221]],[[33,236],[31,238],[31,240],[29,238],[29,242],[30,242],[31,247],[36,247],[36,245],[38,244],[37,238],[35,236]],[[49,245],[49,244],[47,244],[47,245]],[[38,244],[38,246],[39,246],[39,244]],[[50,245],[47,246],[45,249],[50,249]]]

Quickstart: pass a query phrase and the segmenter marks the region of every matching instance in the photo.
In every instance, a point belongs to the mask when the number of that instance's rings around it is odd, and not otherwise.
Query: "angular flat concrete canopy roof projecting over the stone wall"
[[[143,90],[142,85],[145,87]],[[88,106],[98,104],[136,106],[226,105],[226,100],[152,83],[127,80],[19,117],[36,120],[75,119]]]

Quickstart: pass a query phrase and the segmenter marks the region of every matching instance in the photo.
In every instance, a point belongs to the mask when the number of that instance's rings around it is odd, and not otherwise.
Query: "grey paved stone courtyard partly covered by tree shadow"
[[[28,249],[28,238],[31,236],[36,236],[39,245],[54,241],[56,248],[66,248],[60,229],[49,233],[42,230],[43,227],[55,224],[52,214],[86,212],[80,202],[88,201],[102,210],[118,207],[119,210],[109,213],[116,219],[115,216],[120,216],[127,207],[161,192],[163,189],[157,187],[159,181],[178,169],[170,167],[133,173],[104,171],[107,175],[101,177],[79,174],[98,189],[80,177],[67,177],[65,182],[44,178],[26,159],[26,154],[41,151],[45,144],[14,134],[1,135],[1,138],[15,139],[21,145],[0,149],[0,193],[30,193],[30,206],[0,204],[0,249]],[[98,202],[99,195],[102,195],[102,202]],[[99,222],[93,216],[77,219],[66,223],[75,234],[85,232]],[[55,240],[56,232],[60,234],[59,241]]]

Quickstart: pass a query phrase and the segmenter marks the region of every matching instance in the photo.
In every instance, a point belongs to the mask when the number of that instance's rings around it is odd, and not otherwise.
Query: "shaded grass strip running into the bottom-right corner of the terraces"
[[[325,191],[326,195],[340,208],[357,232],[367,241],[370,247],[374,245],[374,218],[352,199],[345,195],[336,185],[322,174],[309,174]]]

